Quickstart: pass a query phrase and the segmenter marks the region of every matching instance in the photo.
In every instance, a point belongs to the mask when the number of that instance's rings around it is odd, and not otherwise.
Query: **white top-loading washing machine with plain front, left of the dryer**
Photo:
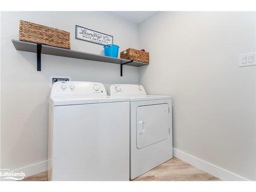
[[[102,83],[53,84],[49,101],[51,181],[127,181],[129,98],[110,98]]]

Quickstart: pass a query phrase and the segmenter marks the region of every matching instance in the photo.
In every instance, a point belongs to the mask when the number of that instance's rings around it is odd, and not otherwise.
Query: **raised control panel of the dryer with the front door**
[[[112,84],[111,96],[146,95],[146,91],[140,84]]]

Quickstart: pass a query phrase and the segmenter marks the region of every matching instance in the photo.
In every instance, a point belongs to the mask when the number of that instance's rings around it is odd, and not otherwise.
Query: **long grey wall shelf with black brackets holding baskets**
[[[122,65],[135,66],[135,67],[148,65],[148,63],[144,63],[144,62],[120,59],[115,57],[107,57],[103,55],[96,55],[96,54],[86,53],[86,52],[81,52],[76,50],[62,49],[62,48],[57,48],[57,47],[52,47],[47,45],[38,45],[33,42],[20,41],[15,39],[12,39],[12,43],[16,50],[37,53],[37,56],[38,56],[38,47],[39,47],[41,54],[70,57],[70,58],[77,58],[77,59],[84,59],[84,60],[93,60],[93,61],[107,62],[107,63],[115,63],[121,66],[121,76],[122,76]],[[38,58],[37,58],[37,64],[38,64]],[[39,68],[37,67],[37,71],[41,71],[40,66]]]

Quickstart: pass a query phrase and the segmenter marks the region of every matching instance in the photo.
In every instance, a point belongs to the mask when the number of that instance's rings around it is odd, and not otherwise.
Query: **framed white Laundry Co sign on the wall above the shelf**
[[[100,45],[113,44],[113,36],[76,25],[76,39]]]

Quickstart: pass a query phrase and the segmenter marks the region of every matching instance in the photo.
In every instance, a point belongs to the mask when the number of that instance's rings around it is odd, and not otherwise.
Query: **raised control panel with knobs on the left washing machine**
[[[50,97],[66,96],[106,96],[106,90],[100,82],[57,81],[53,83]]]

